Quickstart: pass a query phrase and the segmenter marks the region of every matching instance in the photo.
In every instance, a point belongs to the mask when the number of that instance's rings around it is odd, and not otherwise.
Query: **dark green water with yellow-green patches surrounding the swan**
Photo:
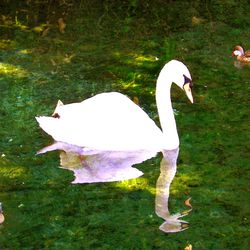
[[[0,248],[248,249],[250,67],[231,58],[235,45],[250,48],[247,1],[35,2],[2,4]],[[190,69],[195,104],[173,87],[181,145],[170,211],[188,197],[193,211],[188,230],[164,234],[154,214],[161,155],[140,164],[136,180],[72,185],[57,152],[35,155],[52,140],[34,117],[50,115],[58,99],[115,90],[157,121],[155,81],[172,58]]]

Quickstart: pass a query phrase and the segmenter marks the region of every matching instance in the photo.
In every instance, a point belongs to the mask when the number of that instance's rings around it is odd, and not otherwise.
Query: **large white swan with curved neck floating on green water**
[[[38,153],[57,149],[79,155],[112,152],[105,158],[115,158],[117,163],[120,154],[115,152],[127,152],[130,159],[133,154],[138,158],[131,160],[133,165],[154,157],[157,152],[178,148],[179,137],[170,98],[172,82],[182,88],[193,103],[189,70],[177,60],[168,62],[156,85],[162,130],[125,95],[102,93],[80,103],[63,105],[58,102],[52,117],[36,117],[40,127],[56,141]],[[126,154],[122,157],[125,159]]]

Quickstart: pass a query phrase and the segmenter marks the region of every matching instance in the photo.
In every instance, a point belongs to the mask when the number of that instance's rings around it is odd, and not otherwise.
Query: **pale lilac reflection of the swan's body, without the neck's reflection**
[[[152,155],[147,150],[86,152],[81,147],[56,141],[37,154],[52,150],[60,150],[61,167],[74,172],[75,180],[72,183],[113,182],[140,177],[143,172],[132,165],[141,163],[145,157]]]

